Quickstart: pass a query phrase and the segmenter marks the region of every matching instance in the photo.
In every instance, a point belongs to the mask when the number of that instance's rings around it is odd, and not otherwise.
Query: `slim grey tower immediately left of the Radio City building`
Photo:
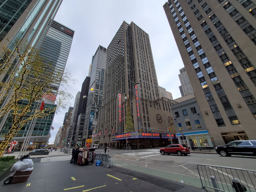
[[[92,126],[92,121],[95,121],[97,115],[97,109],[101,108],[102,100],[104,100],[104,81],[105,81],[105,67],[107,59],[107,49],[99,45],[91,61],[91,74],[90,74],[90,85],[89,92],[86,95],[89,98],[83,98],[86,100],[86,115],[84,119],[84,130],[83,138],[92,138],[92,131],[94,130]],[[84,96],[84,95],[83,95]],[[95,115],[94,115],[95,114]]]

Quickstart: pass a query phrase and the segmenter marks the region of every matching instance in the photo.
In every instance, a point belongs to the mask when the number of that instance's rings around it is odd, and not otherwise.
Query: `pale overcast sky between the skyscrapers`
[[[173,95],[181,97],[179,69],[184,67],[172,35],[163,5],[167,0],[63,0],[54,20],[74,30],[74,37],[66,64],[73,78],[69,92],[75,98],[88,76],[92,56],[99,45],[107,48],[123,21],[132,21],[150,38],[158,85]],[[70,101],[74,105],[74,99]],[[49,143],[53,143],[62,125],[65,111],[55,114]]]

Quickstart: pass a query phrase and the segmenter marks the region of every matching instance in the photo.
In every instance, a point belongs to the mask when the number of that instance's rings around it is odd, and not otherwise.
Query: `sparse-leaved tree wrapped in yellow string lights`
[[[6,147],[22,127],[34,118],[43,118],[51,113],[65,109],[72,95],[66,88],[75,80],[69,72],[58,70],[33,47],[22,47],[16,42],[10,47],[4,47],[0,60],[0,120],[12,113],[12,127],[0,144],[0,154],[3,156]],[[56,84],[61,82],[61,89],[56,98],[56,107],[36,110],[28,115],[36,101],[41,101],[42,95],[53,94]],[[56,95],[56,94],[55,94]],[[27,100],[28,104],[22,104]],[[37,102],[38,103],[38,102]]]

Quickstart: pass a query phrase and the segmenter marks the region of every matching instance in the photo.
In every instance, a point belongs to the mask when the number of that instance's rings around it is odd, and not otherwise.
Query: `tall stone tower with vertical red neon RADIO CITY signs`
[[[170,105],[175,102],[160,99],[149,35],[133,22],[124,21],[107,48],[104,82],[104,102],[97,117],[95,142],[114,148],[169,143],[167,127],[173,126]],[[128,101],[134,131],[127,127],[131,131],[126,133]]]

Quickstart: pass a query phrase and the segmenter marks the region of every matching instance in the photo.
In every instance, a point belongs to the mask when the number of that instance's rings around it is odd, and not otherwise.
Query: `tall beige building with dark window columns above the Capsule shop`
[[[217,145],[256,139],[255,3],[169,0],[163,7],[209,135]]]

